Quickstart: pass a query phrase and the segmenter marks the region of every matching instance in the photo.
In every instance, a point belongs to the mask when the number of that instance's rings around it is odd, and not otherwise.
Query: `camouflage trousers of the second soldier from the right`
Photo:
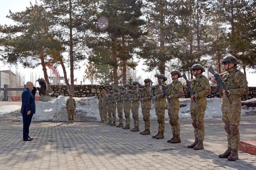
[[[195,139],[204,140],[204,111],[191,110],[192,125],[195,128]]]

